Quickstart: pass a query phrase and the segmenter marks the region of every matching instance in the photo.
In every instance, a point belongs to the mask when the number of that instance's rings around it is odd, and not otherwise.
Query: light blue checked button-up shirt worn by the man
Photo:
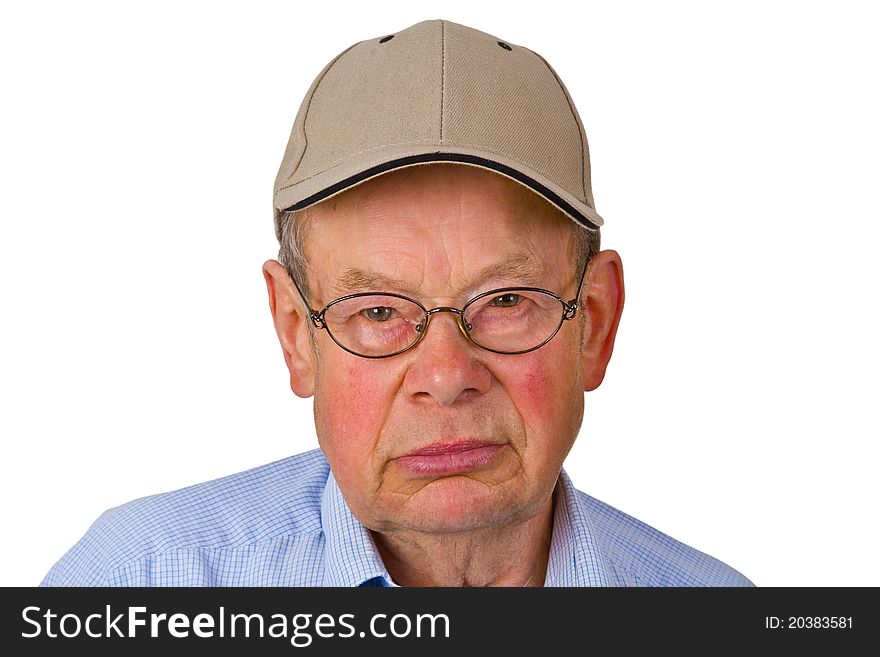
[[[545,586],[751,586],[574,488],[556,487]],[[395,586],[320,450],[102,514],[42,586]]]

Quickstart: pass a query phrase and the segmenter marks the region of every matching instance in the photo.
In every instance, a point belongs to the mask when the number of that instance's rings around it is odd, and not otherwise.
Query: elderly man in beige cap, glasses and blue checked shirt
[[[105,513],[47,585],[733,586],[562,465],[623,308],[549,65],[448,21],[322,71],[263,265],[320,450]]]

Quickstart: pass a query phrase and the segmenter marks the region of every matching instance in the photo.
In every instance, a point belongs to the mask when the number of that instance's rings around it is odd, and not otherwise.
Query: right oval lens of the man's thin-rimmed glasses
[[[480,297],[464,311],[465,326],[477,344],[495,351],[525,351],[559,329],[562,304],[532,290],[505,290]]]

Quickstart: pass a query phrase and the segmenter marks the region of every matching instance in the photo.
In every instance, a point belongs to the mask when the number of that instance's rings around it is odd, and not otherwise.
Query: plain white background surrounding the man
[[[759,585],[880,585],[869,7],[4,4],[0,584],[106,508],[316,446],[260,273],[275,172],[333,56],[446,18],[560,74],[623,257],[578,487]]]

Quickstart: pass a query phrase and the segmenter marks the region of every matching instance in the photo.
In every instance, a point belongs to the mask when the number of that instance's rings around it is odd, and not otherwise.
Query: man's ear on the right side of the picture
[[[600,251],[590,261],[581,293],[587,313],[581,366],[584,390],[595,390],[605,378],[623,312],[623,263],[616,251]]]

